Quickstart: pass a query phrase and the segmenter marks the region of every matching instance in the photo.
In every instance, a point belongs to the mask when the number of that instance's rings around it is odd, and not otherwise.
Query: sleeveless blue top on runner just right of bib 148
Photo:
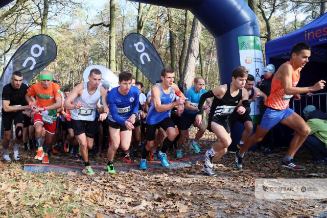
[[[173,97],[174,97],[174,89],[173,87],[170,88],[170,92],[168,94],[166,94],[161,87],[161,84],[157,84],[158,88],[160,90],[160,101],[161,101],[161,105],[168,105],[170,103],[172,103],[173,101]],[[150,104],[150,108],[149,108],[149,112],[146,118],[146,122],[147,124],[153,125],[153,124],[157,124],[160,123],[162,120],[164,120],[166,117],[170,116],[170,110],[166,110],[164,112],[157,112],[154,108],[153,104]]]

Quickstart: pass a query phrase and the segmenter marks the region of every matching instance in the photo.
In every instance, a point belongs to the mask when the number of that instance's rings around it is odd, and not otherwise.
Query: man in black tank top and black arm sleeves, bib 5
[[[202,106],[207,98],[214,97],[211,110],[208,117],[207,129],[220,139],[217,141],[212,149],[205,152],[205,164],[203,171],[209,176],[217,176],[213,172],[213,158],[216,153],[226,153],[228,146],[231,143],[230,126],[228,122],[229,115],[236,109],[239,114],[250,113],[250,104],[248,101],[248,92],[244,89],[248,71],[239,66],[233,69],[231,73],[230,84],[220,85],[212,91],[208,91],[201,95],[198,112],[195,117],[196,124],[202,123]],[[237,108],[237,105],[242,100],[244,106]]]

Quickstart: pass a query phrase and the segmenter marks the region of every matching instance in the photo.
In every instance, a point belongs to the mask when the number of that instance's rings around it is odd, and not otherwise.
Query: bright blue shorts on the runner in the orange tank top
[[[294,111],[290,108],[286,108],[285,110],[273,110],[271,108],[267,108],[262,116],[260,123],[261,128],[264,130],[269,130],[281,122],[281,120],[292,115],[293,113]]]

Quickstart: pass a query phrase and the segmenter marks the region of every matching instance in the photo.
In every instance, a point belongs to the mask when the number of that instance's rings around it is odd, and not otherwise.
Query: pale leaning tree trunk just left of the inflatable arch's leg
[[[194,17],[191,36],[189,40],[188,53],[186,54],[183,74],[180,79],[181,86],[186,90],[192,86],[195,77],[196,60],[199,55],[199,44],[201,38],[202,24]]]

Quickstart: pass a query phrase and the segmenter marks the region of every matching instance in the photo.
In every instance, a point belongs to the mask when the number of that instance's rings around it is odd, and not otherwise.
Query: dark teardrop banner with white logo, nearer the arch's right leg
[[[157,50],[143,35],[131,33],[124,39],[126,57],[155,84],[161,78],[161,70],[165,67]]]

